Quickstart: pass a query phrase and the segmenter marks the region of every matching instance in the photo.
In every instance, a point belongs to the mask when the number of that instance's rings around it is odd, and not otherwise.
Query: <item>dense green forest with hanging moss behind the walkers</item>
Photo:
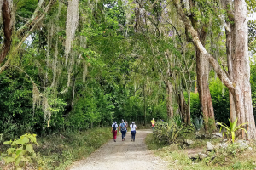
[[[205,26],[205,48],[227,70],[226,32],[219,17],[227,12],[216,8],[222,1],[195,2],[191,10]],[[1,3],[11,16],[8,32],[7,19],[0,15],[2,141],[28,132],[44,135],[106,127],[121,119],[147,124],[152,118],[177,116],[195,127],[202,122],[196,49],[172,1]],[[247,1],[248,14],[255,6]],[[248,24],[255,116],[256,21]],[[229,90],[211,65],[208,71],[215,121],[227,123]]]

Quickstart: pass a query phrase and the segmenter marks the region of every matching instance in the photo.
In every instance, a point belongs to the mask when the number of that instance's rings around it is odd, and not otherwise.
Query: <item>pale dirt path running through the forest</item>
[[[110,140],[90,157],[77,161],[71,170],[104,170],[104,169],[147,169],[166,170],[167,163],[147,149],[144,142],[151,130],[137,130],[135,142],[131,142],[131,133],[126,134],[126,141],[122,141],[121,135],[117,141]]]

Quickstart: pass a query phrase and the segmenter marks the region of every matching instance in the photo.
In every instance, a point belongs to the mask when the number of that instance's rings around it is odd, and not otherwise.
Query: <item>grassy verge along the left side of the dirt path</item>
[[[44,161],[44,164],[34,165],[34,167],[37,169],[41,167],[43,169],[64,170],[73,161],[90,156],[93,151],[111,138],[113,138],[113,133],[110,133],[109,128],[95,128],[83,132],[65,132],[38,137],[39,146],[34,146],[34,150],[38,153],[39,160]]]

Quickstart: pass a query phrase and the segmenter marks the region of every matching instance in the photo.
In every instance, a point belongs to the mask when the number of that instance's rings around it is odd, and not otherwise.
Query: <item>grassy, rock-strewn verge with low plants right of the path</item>
[[[171,123],[176,124],[169,122]],[[153,150],[156,156],[169,163],[170,169],[256,168],[256,144],[253,141],[236,139],[232,143],[226,139],[227,136],[210,136],[204,130],[194,130],[180,133],[175,140],[169,136],[170,142],[163,143],[160,139],[166,139],[166,132],[160,129],[168,127],[163,127],[163,122],[157,122],[155,127],[154,133],[148,134],[145,142],[149,150]],[[212,149],[208,148],[208,143],[211,143]]]

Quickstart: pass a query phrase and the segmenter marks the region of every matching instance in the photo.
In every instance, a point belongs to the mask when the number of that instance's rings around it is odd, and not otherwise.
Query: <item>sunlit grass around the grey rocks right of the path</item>
[[[187,139],[195,139],[192,134],[186,136]],[[241,150],[236,144],[230,144],[227,149],[208,152],[209,156],[203,160],[191,160],[187,150],[178,146],[179,144],[159,144],[150,133],[145,139],[149,150],[153,150],[156,156],[160,156],[169,163],[170,169],[182,170],[231,170],[231,169],[256,169],[256,144],[250,144],[250,150]],[[180,138],[179,141],[182,141]],[[195,139],[195,144],[189,150],[199,148],[206,149],[207,141],[217,144],[219,139]],[[196,148],[195,148],[196,147]]]

